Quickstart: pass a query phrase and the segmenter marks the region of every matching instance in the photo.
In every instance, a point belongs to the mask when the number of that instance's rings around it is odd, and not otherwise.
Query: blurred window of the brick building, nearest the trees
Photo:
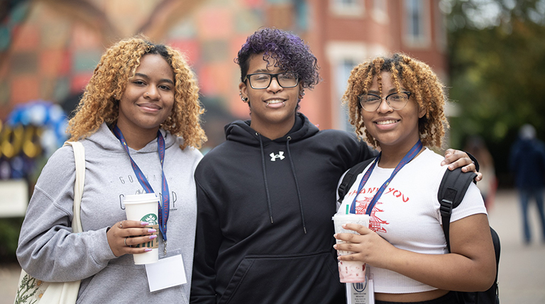
[[[426,47],[429,45],[429,1],[404,0],[405,6],[405,33],[404,40],[412,47]]]

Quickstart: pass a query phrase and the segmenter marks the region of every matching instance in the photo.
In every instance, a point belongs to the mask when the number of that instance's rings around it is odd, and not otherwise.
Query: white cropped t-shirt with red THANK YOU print
[[[370,229],[395,247],[422,254],[446,254],[446,240],[441,228],[437,191],[446,166],[439,154],[425,149],[397,172],[375,204]],[[368,166],[369,167],[369,166]],[[338,213],[346,212],[358,191],[366,168],[346,194]],[[376,167],[357,198],[356,211],[365,213],[378,188],[390,178],[394,169]],[[486,213],[479,189],[471,183],[460,205],[453,209],[451,223],[477,213]],[[373,275],[375,292],[417,293],[436,288],[397,274],[394,271],[368,267]]]

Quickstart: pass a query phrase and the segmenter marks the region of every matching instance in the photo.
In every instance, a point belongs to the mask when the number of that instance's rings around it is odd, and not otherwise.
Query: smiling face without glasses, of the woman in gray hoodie
[[[126,133],[155,135],[174,104],[174,73],[161,55],[144,55],[119,101],[117,126]]]

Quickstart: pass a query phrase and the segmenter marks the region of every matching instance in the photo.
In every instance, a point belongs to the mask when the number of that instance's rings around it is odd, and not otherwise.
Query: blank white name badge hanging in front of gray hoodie
[[[187,283],[182,255],[159,259],[156,263],[145,264],[150,292]]]

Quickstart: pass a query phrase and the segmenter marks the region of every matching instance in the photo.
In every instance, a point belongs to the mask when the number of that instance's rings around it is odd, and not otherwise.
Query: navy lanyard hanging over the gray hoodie
[[[145,193],[154,193],[148,179],[145,178],[142,170],[131,157],[125,137],[123,137],[123,133],[121,133],[121,130],[119,130],[117,125],[114,126],[114,135],[116,135],[121,142],[121,145],[123,145],[123,148],[125,148],[128,158],[131,159],[131,166],[133,167],[134,174],[136,174],[136,179],[138,179],[138,182],[140,182],[141,186],[144,188]],[[165,139],[160,131],[157,131],[157,146],[159,151],[159,160],[161,162],[161,175],[163,176],[163,186],[161,188],[163,204],[159,203],[159,230],[163,235],[163,241],[165,242],[165,254],[167,254],[167,221],[168,213],[170,211],[170,195],[168,191],[167,179],[165,178],[165,170],[163,169],[163,163],[165,161]]]

